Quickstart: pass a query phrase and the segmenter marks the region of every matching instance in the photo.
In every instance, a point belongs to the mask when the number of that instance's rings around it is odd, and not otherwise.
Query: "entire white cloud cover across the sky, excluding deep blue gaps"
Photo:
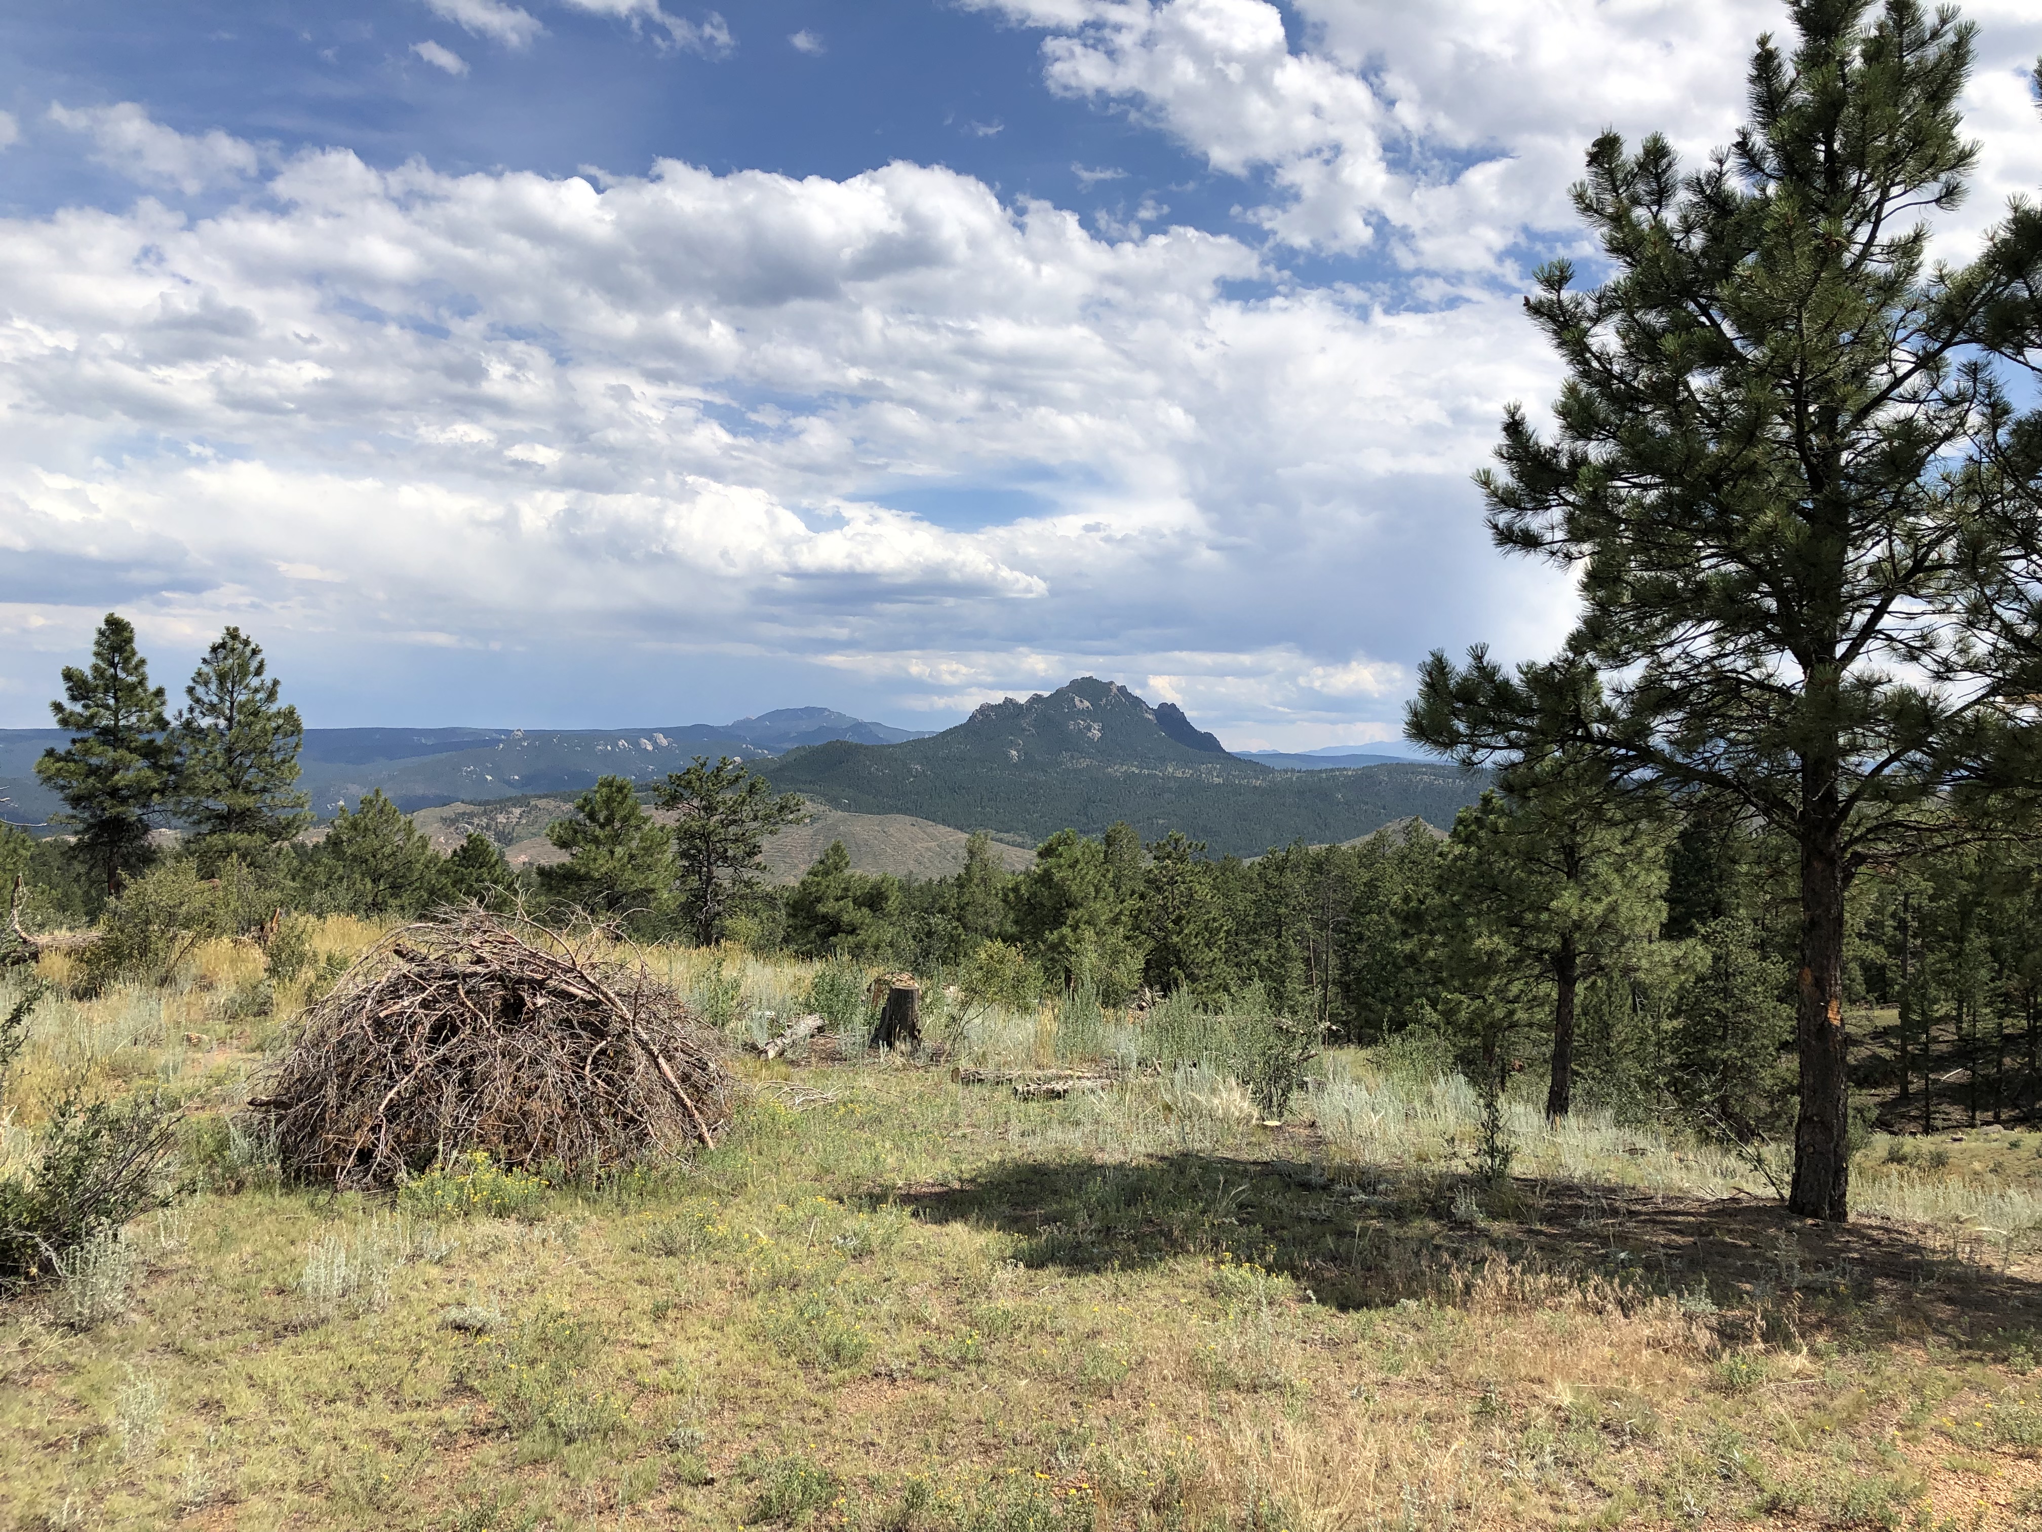
[[[1572,243],[1607,123],[1728,133],[1777,10],[1305,0],[1299,39],[1260,0],[982,8],[1043,33],[1048,88],[1239,178],[1237,227],[1113,235],[917,163],[453,176],[51,108],[143,194],[0,221],[8,721],[112,603],[194,648],[239,621],[676,695],[792,666],[945,711],[1099,672],[1237,746],[1395,733],[1436,643],[1546,650],[1566,586],[1489,554],[1468,486],[1503,402],[1552,392],[1523,266]],[[2042,180],[2005,31],[1981,221]]]

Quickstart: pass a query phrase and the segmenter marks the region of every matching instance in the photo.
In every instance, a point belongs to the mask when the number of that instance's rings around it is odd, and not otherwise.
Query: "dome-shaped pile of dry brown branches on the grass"
[[[470,1150],[598,1170],[713,1144],[729,1093],[717,1034],[643,964],[468,909],[355,962],[249,1109],[286,1175],[388,1189]]]

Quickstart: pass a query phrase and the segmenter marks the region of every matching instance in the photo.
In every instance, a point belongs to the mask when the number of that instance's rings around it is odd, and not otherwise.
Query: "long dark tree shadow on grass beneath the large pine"
[[[1227,1252],[1335,1307],[1572,1287],[1611,1303],[1672,1297],[1732,1332],[2042,1350],[2034,1262],[2003,1268],[1977,1236],[1966,1244],[1887,1219],[1838,1228],[1748,1197],[1538,1179],[1478,1187],[1370,1166],[1327,1179],[1297,1162],[1178,1152],[1009,1160],[898,1201],[927,1222],[1017,1236],[1015,1256],[1037,1268],[1135,1271]]]

